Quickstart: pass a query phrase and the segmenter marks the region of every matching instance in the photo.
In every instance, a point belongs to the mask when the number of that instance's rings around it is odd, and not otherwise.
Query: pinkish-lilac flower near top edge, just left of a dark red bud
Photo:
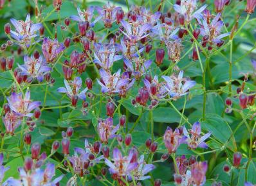
[[[105,4],[102,8],[100,6],[96,6],[95,9],[100,17],[98,19],[102,19],[106,28],[112,27],[113,22],[116,21],[116,12],[118,10],[122,10],[122,8],[119,6],[111,6],[109,2],[107,2],[107,4]]]

